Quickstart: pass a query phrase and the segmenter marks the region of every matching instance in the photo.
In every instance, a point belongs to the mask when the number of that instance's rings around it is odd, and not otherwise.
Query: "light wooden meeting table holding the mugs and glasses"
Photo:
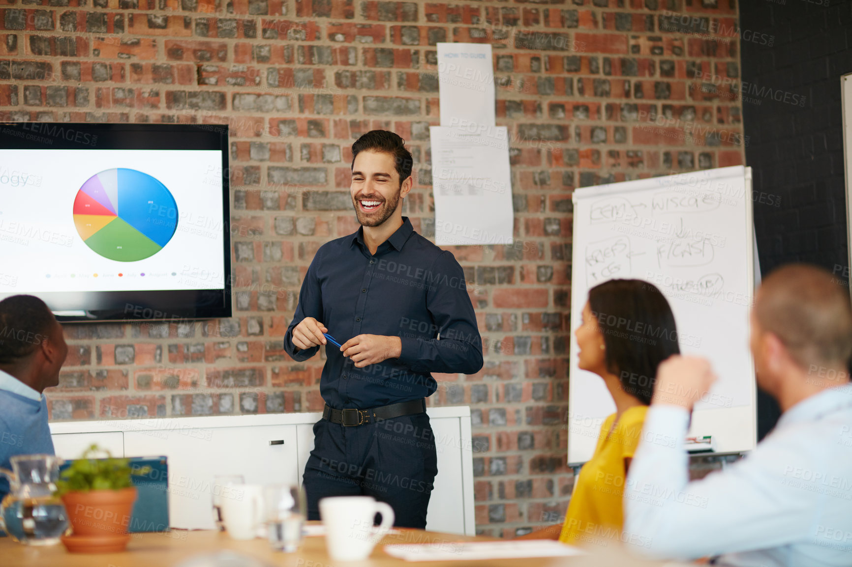
[[[334,561],[325,551],[325,537],[306,537],[296,553],[273,551],[268,541],[232,540],[214,530],[172,530],[162,533],[132,534],[123,553],[68,553],[62,544],[31,547],[0,538],[0,565],[3,567],[175,567],[196,555],[232,550],[254,558],[264,566],[281,567],[627,567],[662,565],[641,561],[620,549],[600,549],[573,558],[501,559],[492,561],[444,561],[407,563],[383,551],[389,543],[431,543],[440,545],[455,541],[493,541],[488,537],[458,536],[423,530],[400,530],[385,536],[364,561]],[[665,564],[667,567],[673,565]],[[234,565],[233,567],[237,567]]]

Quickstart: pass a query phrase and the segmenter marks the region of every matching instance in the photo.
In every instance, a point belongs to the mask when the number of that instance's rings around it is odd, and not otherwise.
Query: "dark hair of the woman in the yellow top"
[[[659,363],[681,352],[669,302],[653,283],[611,279],[589,290],[589,308],[603,335],[607,370],[625,392],[650,404]]]

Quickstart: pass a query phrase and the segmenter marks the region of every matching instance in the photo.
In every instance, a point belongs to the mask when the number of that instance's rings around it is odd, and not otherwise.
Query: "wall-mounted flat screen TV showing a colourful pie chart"
[[[60,321],[231,316],[227,126],[0,123],[0,299]]]

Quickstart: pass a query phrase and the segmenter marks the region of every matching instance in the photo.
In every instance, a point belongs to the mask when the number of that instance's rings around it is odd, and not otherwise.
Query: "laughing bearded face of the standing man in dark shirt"
[[[366,150],[355,156],[349,193],[362,226],[381,226],[391,217],[401,218],[400,198],[411,187],[411,177],[400,183],[393,155]]]

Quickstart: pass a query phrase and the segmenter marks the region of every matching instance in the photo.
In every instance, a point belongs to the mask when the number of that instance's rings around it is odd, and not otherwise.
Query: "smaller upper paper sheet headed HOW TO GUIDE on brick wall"
[[[491,45],[438,43],[441,126],[494,126]]]

